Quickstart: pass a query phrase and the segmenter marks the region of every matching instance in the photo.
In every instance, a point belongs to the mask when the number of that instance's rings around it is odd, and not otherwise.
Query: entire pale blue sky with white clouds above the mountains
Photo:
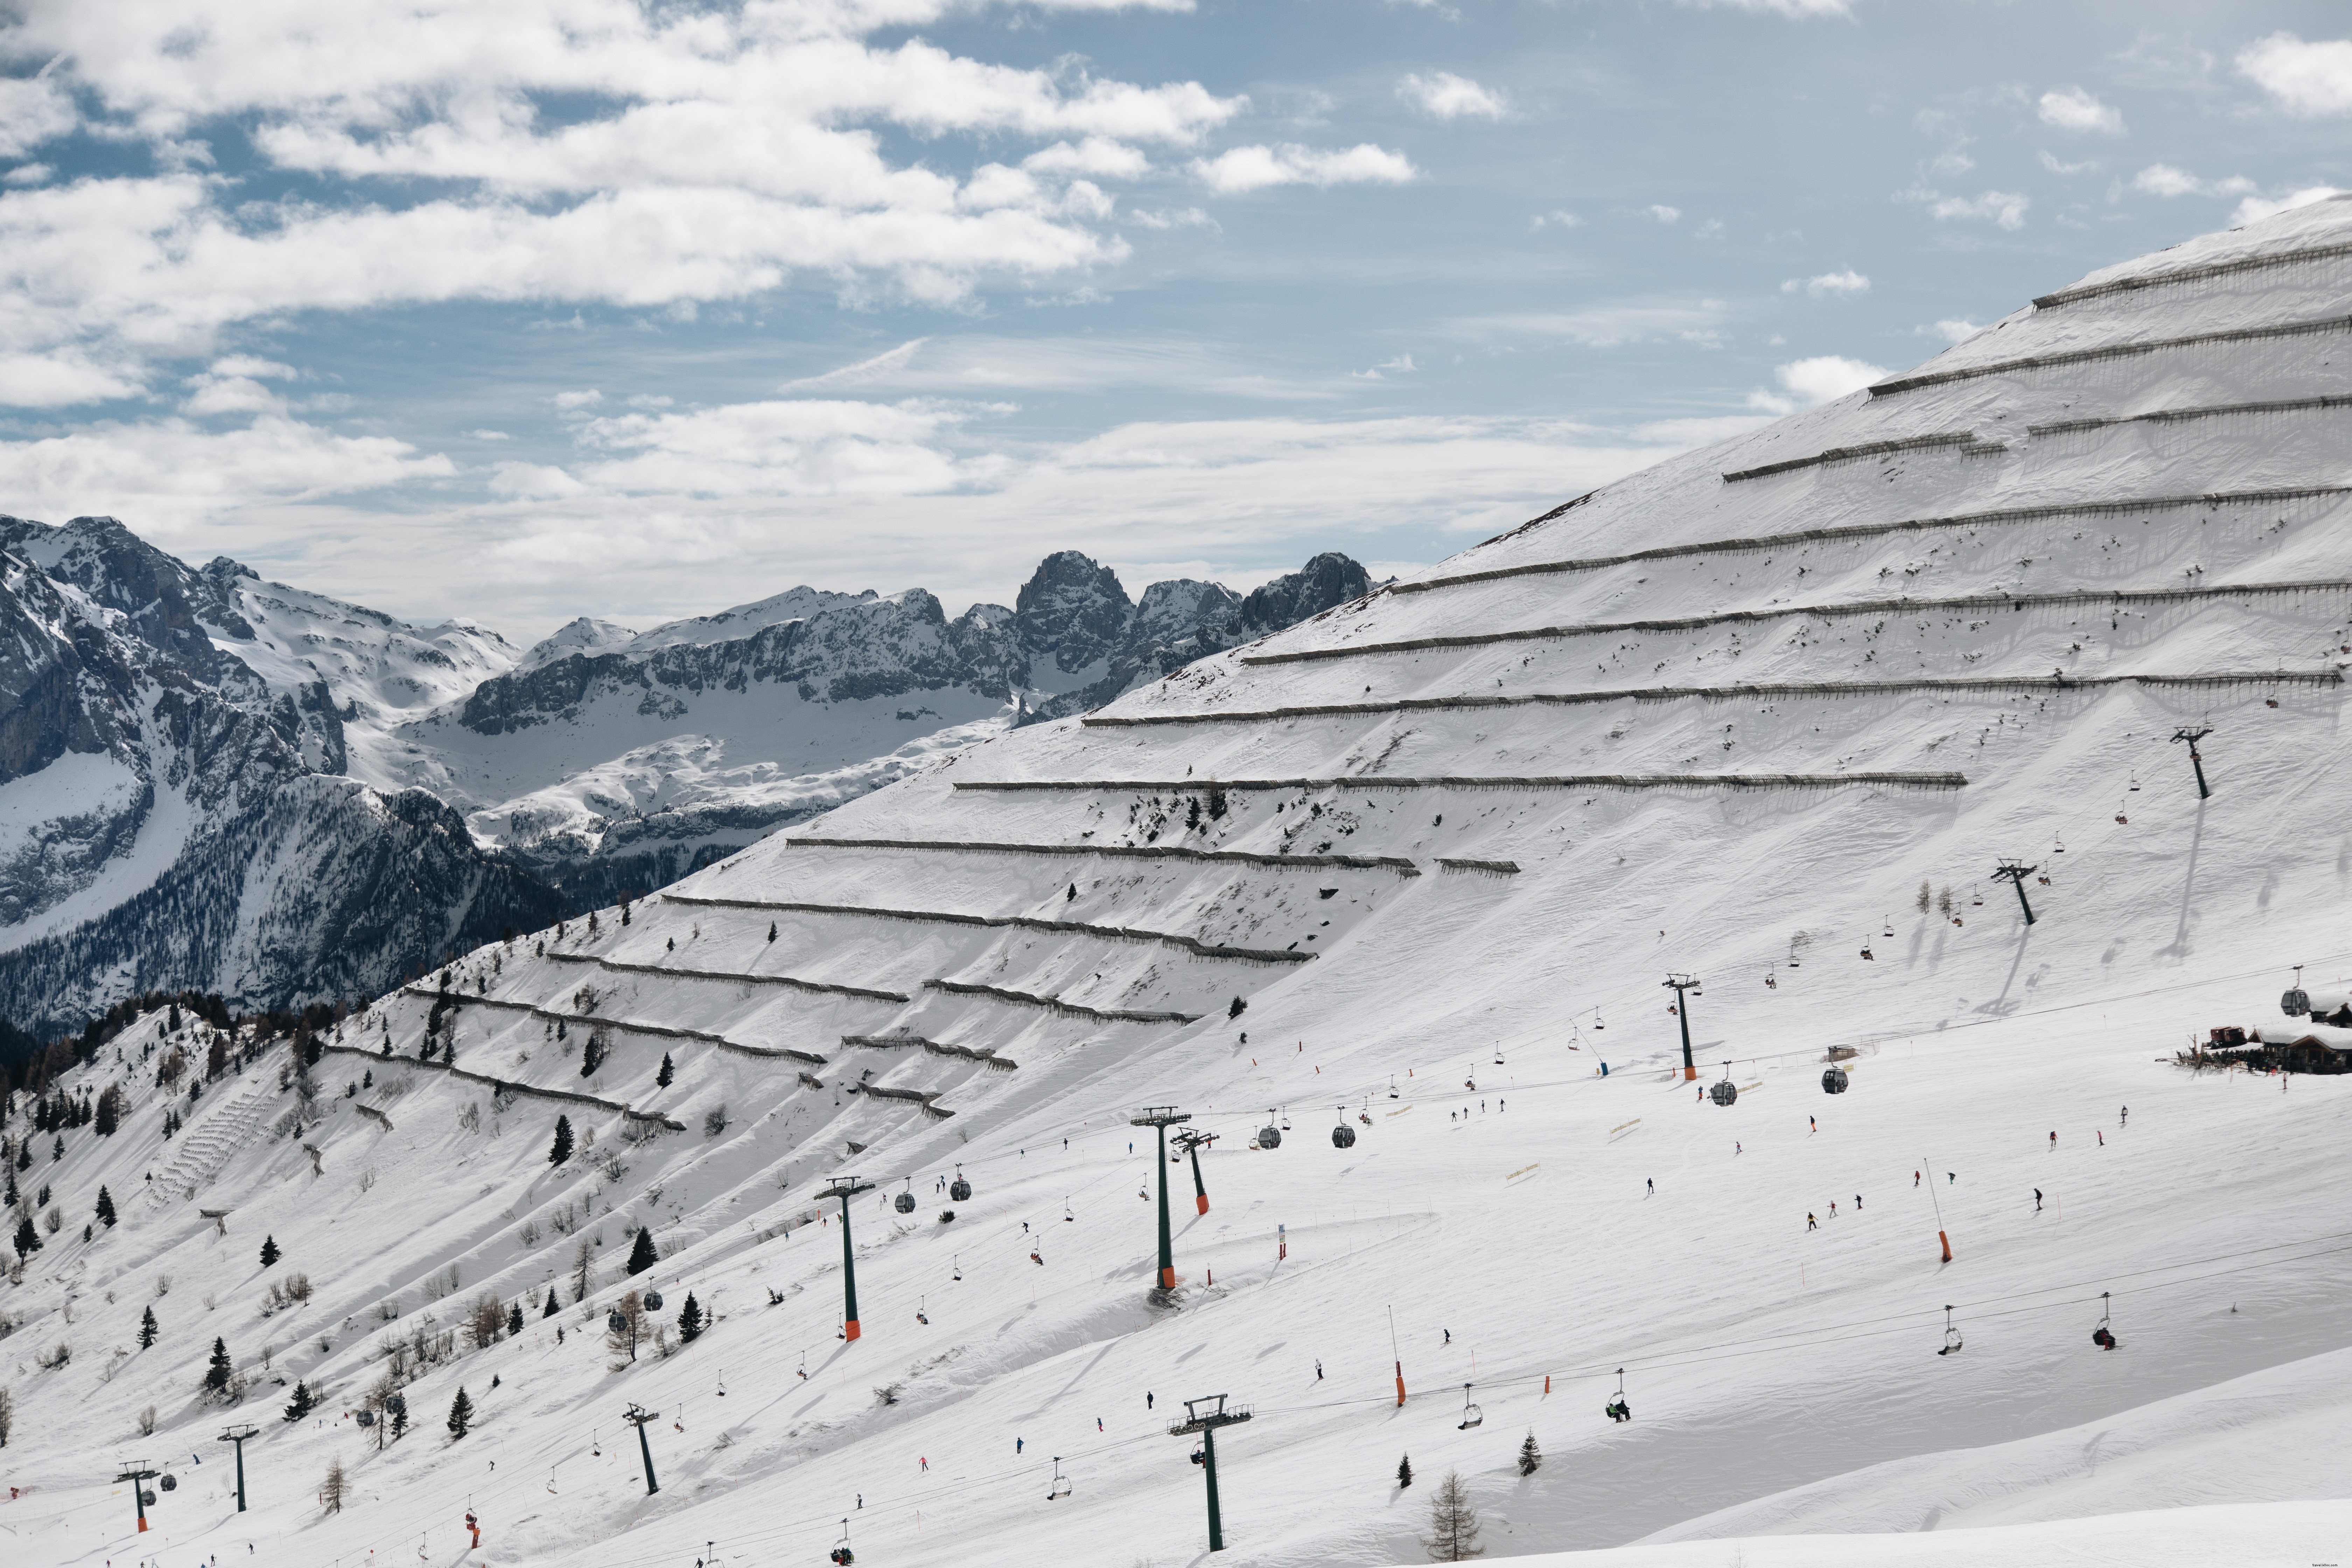
[[[1439,559],[2352,186],[2343,5],[21,0],[0,510],[529,639]]]

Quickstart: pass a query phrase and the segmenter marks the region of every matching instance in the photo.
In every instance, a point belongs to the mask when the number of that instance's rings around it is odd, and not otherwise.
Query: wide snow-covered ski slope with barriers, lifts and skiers
[[[2347,230],[2321,202],[2093,275],[2183,273],[468,954],[456,1072],[419,1063],[440,978],[339,1027],[299,1133],[278,1041],[179,1138],[275,1119],[153,1204],[181,1152],[141,1020],[71,1077],[122,1079],[125,1131],[19,1173],[71,1225],[0,1293],[12,1549],[821,1563],[847,1521],[861,1563],[1190,1563],[1167,1427],[1228,1394],[1230,1563],[1421,1561],[1449,1469],[1489,1556],[2333,1561],[2352,1077],[2173,1058],[2274,1020],[2296,964],[2352,973]],[[1668,976],[1700,978],[1696,1081]],[[1148,1105],[1216,1133],[1207,1213]],[[854,1342],[842,1175],[875,1185]],[[82,1244],[101,1182],[125,1218]],[[623,1281],[637,1225],[661,1260]],[[287,1272],[313,1300],[263,1316]],[[647,1281],[717,1324],[630,1363],[597,1326]],[[485,1291],[522,1333],[459,1333],[376,1453],[348,1413],[386,1342]],[[238,1410],[193,1394],[214,1335]],[[325,1408],[278,1420],[273,1378]],[[226,1420],[263,1427],[242,1516]],[[139,1458],[181,1481],[143,1542]]]

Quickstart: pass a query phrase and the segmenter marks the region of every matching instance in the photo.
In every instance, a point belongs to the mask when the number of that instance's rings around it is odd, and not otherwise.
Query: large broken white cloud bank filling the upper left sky
[[[45,172],[21,169],[0,186],[0,355],[49,364],[0,400],[113,397],[158,360],[303,310],[527,301],[691,320],[800,280],[929,303],[1082,280],[1127,254],[1096,228],[1115,205],[1101,181],[1148,176],[1143,148],[1197,148],[1247,106],[1200,82],[868,40],[960,9],[24,0],[0,45],[52,66],[0,78],[0,158],[73,132],[80,103],[85,134],[143,143],[153,172],[26,188]],[[306,176],[303,195],[247,200],[214,176],[223,127],[266,172]],[[920,158],[896,150],[908,136]],[[1016,146],[988,162],[967,150],[981,143]],[[1359,148],[1287,176],[1409,172]],[[101,371],[66,374],[75,362]]]

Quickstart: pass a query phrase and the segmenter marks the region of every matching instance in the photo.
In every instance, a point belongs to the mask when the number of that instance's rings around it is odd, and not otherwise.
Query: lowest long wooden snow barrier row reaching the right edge
[[[1590,703],[1679,703],[1684,698],[1700,701],[1748,701],[1748,698],[1785,698],[1785,696],[1893,696],[1903,691],[2096,691],[2100,686],[2336,686],[2343,677],[2336,670],[2303,672],[2303,670],[2218,670],[2218,672],[2190,672],[2190,675],[1924,675],[1919,679],[1891,679],[1891,682],[1778,682],[1778,684],[1733,684],[1733,686],[1613,686],[1599,691],[1529,691],[1524,696],[1399,696],[1381,703],[1322,703],[1322,705],[1298,705],[1298,708],[1207,708],[1195,712],[1150,712],[1134,717],[1108,717],[1094,715],[1080,719],[1082,724],[1096,724],[1103,729],[1150,729],[1164,724],[1270,724],[1275,719],[1345,719],[1388,712],[1463,712],[1472,708],[1583,708]],[[1665,778],[1665,776],[1661,776]],[[1693,773],[1691,778],[1738,778],[1733,773]],[[1860,773],[1853,773],[1860,778]],[[1889,776],[1891,780],[1893,776]],[[1247,780],[1218,778],[1214,780],[1221,790],[1249,790],[1249,788],[1275,788],[1268,783],[1251,785]],[[1341,780],[1357,783],[1357,780]],[[1362,783],[1378,783],[1376,778],[1364,778]],[[957,783],[957,790],[1007,790],[1021,788],[1009,783]],[[1174,785],[1143,783],[1127,785],[1143,790],[1164,790]],[[1192,788],[1200,788],[1197,783]]]

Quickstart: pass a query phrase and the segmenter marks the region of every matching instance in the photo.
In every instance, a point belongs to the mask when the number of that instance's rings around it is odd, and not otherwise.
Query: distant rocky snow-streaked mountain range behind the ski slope
[[[1237,611],[1270,592],[1155,583],[1136,607],[1061,555],[1018,611],[948,623],[922,590],[795,588],[642,635],[574,621],[517,656],[470,623],[191,569],[103,517],[0,520],[0,550],[19,630],[0,976],[5,1016],[45,1032],[146,990],[376,994],[452,945],[708,865],[1075,679],[1098,703],[1176,642],[1258,635]],[[1369,581],[1319,557],[1270,588],[1312,614]]]

